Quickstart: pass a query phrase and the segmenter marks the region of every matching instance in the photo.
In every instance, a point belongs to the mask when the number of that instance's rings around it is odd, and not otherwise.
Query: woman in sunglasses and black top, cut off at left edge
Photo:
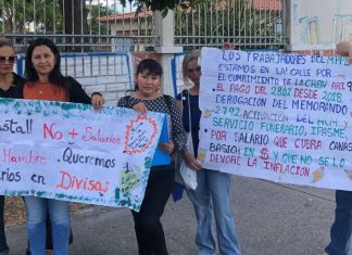
[[[13,73],[13,65],[16,62],[16,55],[12,43],[0,38],[0,98],[18,98],[17,88],[25,81],[22,77]],[[9,254],[9,246],[4,232],[4,196],[0,195],[0,255]]]

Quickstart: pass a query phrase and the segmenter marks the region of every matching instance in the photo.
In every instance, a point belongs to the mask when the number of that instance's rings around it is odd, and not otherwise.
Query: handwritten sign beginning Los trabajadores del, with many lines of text
[[[352,190],[352,66],[345,58],[202,50],[205,168]]]

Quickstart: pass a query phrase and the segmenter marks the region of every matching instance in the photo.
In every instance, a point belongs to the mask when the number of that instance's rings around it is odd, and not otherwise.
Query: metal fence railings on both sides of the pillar
[[[282,48],[287,0],[209,0],[192,10],[174,11],[174,43],[185,50],[219,47]],[[159,46],[150,11],[135,14],[120,1],[3,0],[0,34],[23,52],[36,37],[50,37],[65,52],[144,51]],[[163,36],[163,35],[160,35]]]

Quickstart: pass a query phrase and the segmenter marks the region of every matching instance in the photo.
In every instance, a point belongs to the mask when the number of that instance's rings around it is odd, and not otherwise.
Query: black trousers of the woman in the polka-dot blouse
[[[174,164],[151,167],[140,211],[131,211],[139,255],[168,254],[160,218],[173,190],[174,179]]]

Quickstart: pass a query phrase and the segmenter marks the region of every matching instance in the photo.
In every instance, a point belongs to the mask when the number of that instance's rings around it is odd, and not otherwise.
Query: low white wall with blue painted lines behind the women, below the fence
[[[64,76],[72,76],[77,79],[90,95],[92,92],[100,92],[105,99],[106,105],[115,106],[118,99],[129,94],[135,88],[135,69],[143,59],[154,59],[162,63],[163,54],[154,51],[133,53],[85,53],[63,54],[61,58],[61,71]],[[183,86],[180,61],[183,55],[176,58],[177,67],[171,66],[171,59],[162,64],[164,75],[162,88],[164,93],[174,95],[174,80],[172,74],[176,72],[177,86]],[[174,58],[174,54],[169,54]],[[24,75],[24,56],[18,58],[14,72]]]

